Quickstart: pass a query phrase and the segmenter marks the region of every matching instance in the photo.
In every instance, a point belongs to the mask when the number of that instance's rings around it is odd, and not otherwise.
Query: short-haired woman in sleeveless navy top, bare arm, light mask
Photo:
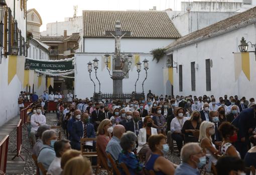
[[[173,175],[177,165],[164,157],[164,154],[169,152],[166,136],[163,134],[150,136],[149,147],[152,150],[152,154],[145,168],[147,170],[154,170],[158,175]]]

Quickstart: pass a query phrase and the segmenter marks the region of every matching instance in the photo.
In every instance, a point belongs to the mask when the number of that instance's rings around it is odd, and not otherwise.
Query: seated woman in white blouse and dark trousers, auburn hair
[[[187,117],[184,117],[184,114],[185,114],[184,108],[179,107],[176,112],[176,117],[173,118],[171,121],[172,138],[177,143],[177,147],[179,150],[178,155],[180,155],[180,151],[181,151],[183,140],[184,140],[181,129],[184,122],[187,120]]]

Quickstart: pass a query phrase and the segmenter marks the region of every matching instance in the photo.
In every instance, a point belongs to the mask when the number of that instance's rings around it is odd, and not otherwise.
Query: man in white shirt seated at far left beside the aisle
[[[40,105],[36,106],[36,113],[31,116],[31,138],[34,143],[36,143],[36,133],[40,125],[46,124],[46,118],[42,114],[42,107]]]

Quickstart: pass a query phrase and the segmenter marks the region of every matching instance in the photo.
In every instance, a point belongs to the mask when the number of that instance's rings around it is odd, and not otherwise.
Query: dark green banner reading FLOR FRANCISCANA
[[[26,59],[25,69],[49,69],[49,70],[70,70],[74,69],[71,61],[41,61],[41,60],[29,60]]]

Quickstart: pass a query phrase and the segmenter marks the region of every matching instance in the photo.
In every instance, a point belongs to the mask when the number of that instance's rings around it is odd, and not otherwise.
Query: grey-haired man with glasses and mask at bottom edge
[[[206,156],[198,143],[187,143],[181,149],[182,163],[175,170],[175,175],[199,175],[198,168],[206,164]]]

